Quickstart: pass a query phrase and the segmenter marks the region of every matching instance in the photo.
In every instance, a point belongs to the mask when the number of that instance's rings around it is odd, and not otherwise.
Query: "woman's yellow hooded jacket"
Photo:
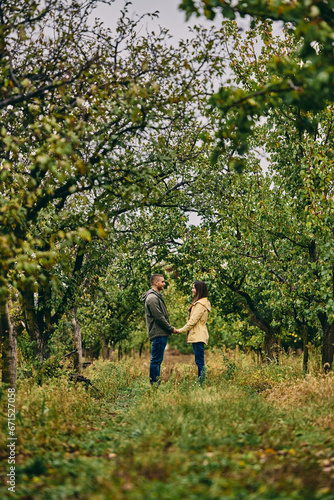
[[[188,332],[188,344],[192,344],[193,342],[208,343],[209,333],[206,322],[209,311],[211,311],[211,304],[207,297],[199,299],[192,305],[187,324],[179,329],[180,333]]]

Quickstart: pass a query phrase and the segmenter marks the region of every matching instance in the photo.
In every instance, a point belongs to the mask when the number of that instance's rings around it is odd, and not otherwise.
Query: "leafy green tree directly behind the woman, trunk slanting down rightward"
[[[211,179],[205,187],[202,182],[200,196],[194,194],[202,223],[188,229],[173,259],[179,286],[186,291],[193,280],[206,281],[212,303],[223,315],[247,323],[248,331],[261,330],[257,342],[273,360],[284,325],[284,304],[282,298],[274,299],[277,286],[261,261],[264,242],[247,221],[263,202],[270,181],[262,178],[257,162],[243,174],[219,165],[212,175],[211,165],[207,168]]]

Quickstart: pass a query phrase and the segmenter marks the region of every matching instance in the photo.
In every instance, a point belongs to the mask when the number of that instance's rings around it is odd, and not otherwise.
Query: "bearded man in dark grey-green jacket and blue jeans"
[[[162,296],[165,279],[162,274],[152,274],[152,288],[143,294],[148,338],[151,341],[150,383],[159,383],[160,367],[164,357],[168,336],[176,332],[170,325],[166,304]]]

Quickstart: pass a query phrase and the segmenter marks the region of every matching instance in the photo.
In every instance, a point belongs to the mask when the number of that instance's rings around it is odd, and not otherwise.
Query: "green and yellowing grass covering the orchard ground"
[[[209,351],[201,387],[192,356],[166,353],[152,389],[148,363],[94,363],[99,393],[65,377],[21,383],[15,498],[334,499],[332,374]],[[5,479],[0,496],[13,498]]]

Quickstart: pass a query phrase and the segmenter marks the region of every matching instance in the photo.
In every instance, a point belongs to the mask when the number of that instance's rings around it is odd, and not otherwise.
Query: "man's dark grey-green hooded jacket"
[[[145,315],[148,338],[166,337],[174,330],[170,325],[167,307],[161,293],[151,288],[143,293],[143,302],[145,303]]]

